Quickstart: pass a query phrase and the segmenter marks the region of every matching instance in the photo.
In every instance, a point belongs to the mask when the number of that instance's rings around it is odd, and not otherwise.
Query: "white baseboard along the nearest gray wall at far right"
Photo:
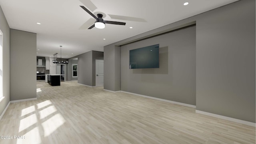
[[[248,121],[245,121],[245,120],[239,120],[239,119],[236,119],[236,118],[230,118],[230,117],[227,117],[227,116],[222,116],[222,115],[218,115],[218,114],[212,114],[210,112],[204,112],[204,111],[200,111],[200,110],[196,110],[196,113],[204,114],[204,115],[207,115],[207,116],[212,116],[212,117],[215,117],[215,118],[229,120],[231,122],[237,122],[239,124],[246,124],[248,126],[254,126],[255,127],[255,123],[254,122],[248,122]]]

